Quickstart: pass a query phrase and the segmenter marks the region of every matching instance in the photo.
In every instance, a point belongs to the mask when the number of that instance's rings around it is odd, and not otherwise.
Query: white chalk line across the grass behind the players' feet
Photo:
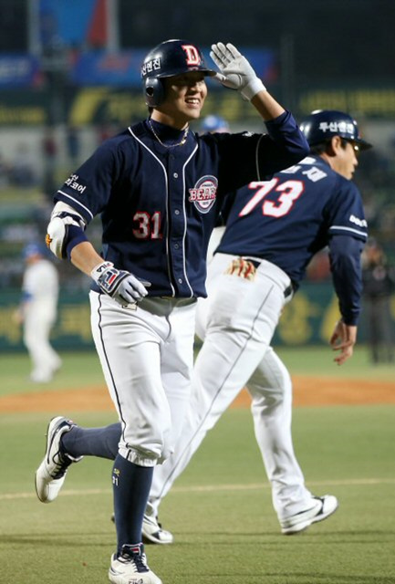
[[[351,478],[336,481],[308,481],[308,486],[371,486],[371,485],[395,485],[394,478]],[[171,493],[217,493],[219,491],[257,491],[268,489],[268,483],[250,483],[246,485],[192,485],[192,486],[174,486]],[[65,489],[62,490],[61,496],[87,496],[87,495],[109,495],[111,489]],[[36,493],[4,493],[0,495],[0,501],[9,501],[15,499],[36,498]]]

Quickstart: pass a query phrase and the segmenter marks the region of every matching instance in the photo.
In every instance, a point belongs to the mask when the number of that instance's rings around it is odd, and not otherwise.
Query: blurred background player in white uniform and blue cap
[[[36,383],[51,381],[62,363],[49,342],[57,319],[58,274],[46,255],[45,247],[26,245],[23,297],[16,314],[16,319],[23,324],[24,343],[32,361],[30,379]]]

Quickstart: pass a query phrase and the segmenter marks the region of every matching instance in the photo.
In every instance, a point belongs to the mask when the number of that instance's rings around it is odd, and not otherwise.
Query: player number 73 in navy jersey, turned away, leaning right
[[[335,496],[315,496],[305,486],[292,444],[291,379],[270,342],[308,262],[328,246],[341,313],[330,346],[338,352],[338,365],[352,356],[367,222],[350,179],[359,151],[370,144],[360,138],[356,121],[341,111],[313,112],[301,129],[309,156],[270,181],[242,187],[229,207],[208,267],[208,297],[198,304],[197,333],[204,342],[193,370],[190,405],[174,454],[155,471],[147,522],[158,516],[161,498],[245,385],[282,533],[302,531],[338,507]],[[171,543],[172,534],[158,525],[151,540]]]

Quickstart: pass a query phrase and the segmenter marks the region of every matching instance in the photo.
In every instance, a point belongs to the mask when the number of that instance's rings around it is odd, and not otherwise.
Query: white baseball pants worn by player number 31
[[[196,301],[147,297],[122,308],[90,292],[91,326],[121,423],[120,454],[140,466],[171,453],[191,391]]]

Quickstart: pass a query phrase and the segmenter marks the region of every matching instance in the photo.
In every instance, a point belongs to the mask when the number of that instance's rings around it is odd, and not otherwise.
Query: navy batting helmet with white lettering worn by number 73
[[[356,120],[343,111],[312,111],[300,124],[300,130],[305,134],[310,146],[322,144],[333,136],[340,136],[344,140],[358,144],[359,150],[371,148],[371,144],[360,137]]]

